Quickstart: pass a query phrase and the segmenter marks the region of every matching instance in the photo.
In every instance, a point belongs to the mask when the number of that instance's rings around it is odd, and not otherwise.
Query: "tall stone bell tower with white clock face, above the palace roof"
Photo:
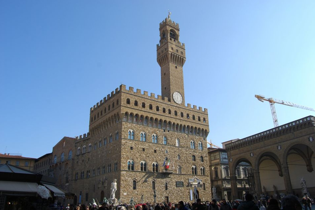
[[[185,44],[179,41],[179,24],[165,18],[160,23],[160,43],[157,44],[157,63],[161,67],[162,97],[176,104],[185,104],[183,65]]]

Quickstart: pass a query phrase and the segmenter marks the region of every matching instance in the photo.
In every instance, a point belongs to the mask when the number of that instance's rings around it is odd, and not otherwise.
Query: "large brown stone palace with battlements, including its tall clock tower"
[[[109,198],[114,179],[123,202],[210,199],[208,111],[185,105],[185,60],[179,24],[166,18],[157,45],[162,95],[120,85],[90,109],[89,133],[75,140],[75,203]]]

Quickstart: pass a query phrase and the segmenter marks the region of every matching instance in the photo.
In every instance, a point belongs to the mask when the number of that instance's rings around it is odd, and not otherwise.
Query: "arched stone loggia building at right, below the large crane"
[[[230,169],[232,199],[238,199],[235,171],[241,162],[253,168],[250,191],[261,198],[294,194],[315,196],[315,117],[232,140],[224,145]]]

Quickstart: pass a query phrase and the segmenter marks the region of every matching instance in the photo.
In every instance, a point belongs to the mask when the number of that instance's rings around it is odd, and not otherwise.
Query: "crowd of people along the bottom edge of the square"
[[[184,202],[179,201],[178,203],[141,203],[135,205],[123,205],[113,206],[109,203],[103,202],[102,205],[93,205],[87,206],[81,204],[75,206],[73,204],[68,204],[67,207],[64,207],[65,210],[312,210],[312,201],[306,195],[302,198],[302,201],[294,195],[289,195],[283,197],[281,200],[274,198],[269,198],[267,200],[254,201],[251,194],[245,195],[244,201],[228,201],[222,199],[221,201],[216,201],[213,199],[210,201],[201,201],[200,198],[197,199],[197,202]]]

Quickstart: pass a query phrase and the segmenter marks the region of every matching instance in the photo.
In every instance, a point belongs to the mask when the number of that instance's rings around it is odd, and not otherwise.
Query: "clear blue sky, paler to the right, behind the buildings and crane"
[[[180,25],[185,102],[222,146],[273,128],[268,102],[315,108],[315,1],[0,1],[0,152],[38,158],[88,132],[120,84],[161,94],[159,23]],[[275,105],[279,125],[315,112]]]

